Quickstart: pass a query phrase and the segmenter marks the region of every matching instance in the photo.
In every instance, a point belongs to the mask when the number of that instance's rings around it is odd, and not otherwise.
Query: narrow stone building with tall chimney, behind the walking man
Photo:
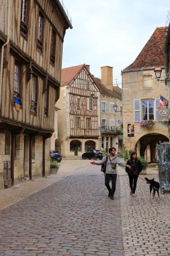
[[[113,67],[101,67],[101,79],[95,77],[100,89],[101,149],[122,150],[122,89],[113,86]],[[117,111],[114,110],[117,106]]]

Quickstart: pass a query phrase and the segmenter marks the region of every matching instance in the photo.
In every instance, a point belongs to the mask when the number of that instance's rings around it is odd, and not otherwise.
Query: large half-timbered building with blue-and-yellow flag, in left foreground
[[[59,0],[0,0],[0,187],[50,172],[62,44]]]

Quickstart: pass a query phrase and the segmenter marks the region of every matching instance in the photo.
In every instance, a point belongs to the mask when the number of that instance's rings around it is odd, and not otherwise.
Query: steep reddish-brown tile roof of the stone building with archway
[[[146,42],[144,48],[135,59],[135,61],[122,70],[133,71],[144,67],[160,67],[165,65],[164,45],[166,27],[156,28],[151,38]]]

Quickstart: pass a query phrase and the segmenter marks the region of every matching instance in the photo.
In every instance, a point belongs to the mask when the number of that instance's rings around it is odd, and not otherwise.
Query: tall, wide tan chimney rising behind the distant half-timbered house
[[[101,83],[108,89],[113,90],[113,67],[101,67]]]

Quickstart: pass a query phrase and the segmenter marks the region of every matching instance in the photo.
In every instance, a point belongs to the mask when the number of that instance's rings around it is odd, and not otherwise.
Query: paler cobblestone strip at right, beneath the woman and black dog
[[[140,177],[159,181],[157,174]],[[142,179],[138,179],[136,198],[129,193],[127,175],[120,179],[124,255],[170,255],[170,193],[161,194],[157,200],[150,199],[149,185]]]

